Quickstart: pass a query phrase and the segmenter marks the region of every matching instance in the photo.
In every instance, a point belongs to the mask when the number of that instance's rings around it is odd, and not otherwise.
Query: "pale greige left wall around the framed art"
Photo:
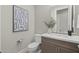
[[[22,5],[19,6],[28,10],[29,12],[29,31],[24,32],[12,32],[12,6],[5,5],[1,6],[1,42],[2,42],[2,52],[19,52],[25,48],[32,40],[34,35],[34,6]],[[23,39],[20,47],[17,45],[17,40]]]

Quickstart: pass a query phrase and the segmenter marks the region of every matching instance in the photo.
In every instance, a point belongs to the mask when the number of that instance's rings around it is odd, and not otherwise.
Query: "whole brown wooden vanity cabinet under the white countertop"
[[[78,44],[61,41],[53,38],[42,37],[42,53],[77,53],[79,52]]]

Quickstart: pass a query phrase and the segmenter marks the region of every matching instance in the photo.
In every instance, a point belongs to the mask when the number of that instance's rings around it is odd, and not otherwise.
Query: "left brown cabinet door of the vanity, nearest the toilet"
[[[44,44],[42,44],[42,52],[43,53],[57,53],[58,47],[51,43],[44,42]]]

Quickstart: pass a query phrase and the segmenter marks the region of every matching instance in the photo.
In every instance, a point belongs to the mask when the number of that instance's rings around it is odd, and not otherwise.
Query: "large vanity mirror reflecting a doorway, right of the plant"
[[[56,24],[53,32],[68,33],[72,30],[72,6],[60,5],[51,9],[51,17],[54,18]]]

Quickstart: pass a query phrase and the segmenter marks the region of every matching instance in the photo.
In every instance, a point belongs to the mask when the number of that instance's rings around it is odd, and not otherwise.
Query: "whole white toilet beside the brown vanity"
[[[28,45],[28,53],[38,53],[41,52],[40,49],[38,49],[40,43],[41,43],[41,34],[35,34],[34,42],[30,43]]]

